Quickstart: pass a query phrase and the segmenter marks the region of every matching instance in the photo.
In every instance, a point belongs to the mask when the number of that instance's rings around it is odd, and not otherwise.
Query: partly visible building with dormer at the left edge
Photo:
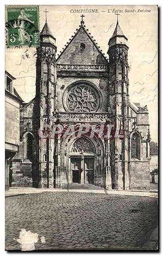
[[[5,189],[12,184],[12,158],[20,144],[20,105],[22,99],[12,85],[15,80],[5,71]]]

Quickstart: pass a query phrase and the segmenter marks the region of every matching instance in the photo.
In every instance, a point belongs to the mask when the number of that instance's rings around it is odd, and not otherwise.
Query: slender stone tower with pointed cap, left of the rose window
[[[53,113],[56,107],[55,38],[49,30],[47,22],[40,33],[40,47],[37,48],[36,61],[36,97],[34,123],[37,186],[51,188],[54,184],[54,140],[49,138],[53,126]]]

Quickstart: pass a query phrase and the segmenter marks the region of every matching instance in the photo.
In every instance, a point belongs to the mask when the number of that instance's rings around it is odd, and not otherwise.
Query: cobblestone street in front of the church
[[[20,250],[20,230],[40,236],[35,249],[142,249],[157,225],[158,199],[41,192],[5,199],[5,248]],[[150,249],[150,248],[149,248]]]

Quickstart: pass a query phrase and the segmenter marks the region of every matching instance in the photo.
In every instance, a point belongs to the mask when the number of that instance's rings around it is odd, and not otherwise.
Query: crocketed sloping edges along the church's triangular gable
[[[76,32],[74,32],[74,35],[72,35],[71,38],[68,40],[69,42],[66,43],[65,48],[62,48],[62,51],[60,51],[60,53],[58,54],[58,58],[57,58],[56,61],[58,61],[58,59],[61,57],[62,53],[65,52],[65,50],[66,50],[67,47],[70,45],[70,43],[72,42],[72,40],[73,40],[73,39],[75,38],[75,36],[78,34],[79,30],[82,29],[82,28],[85,30],[87,36],[89,36],[90,40],[91,40],[91,41],[93,42],[93,44],[96,46],[96,48],[98,49],[98,51],[99,51],[100,53],[102,53],[104,59],[105,59],[106,62],[109,64],[109,62],[108,62],[109,59],[107,59],[107,58],[105,57],[105,53],[102,52],[102,49],[100,49],[100,46],[98,46],[98,43],[96,42],[96,40],[93,39],[93,36],[91,36],[91,33],[88,33],[88,32],[89,32],[89,29],[86,29],[86,26],[85,26],[85,25],[79,25],[79,28],[76,29]]]

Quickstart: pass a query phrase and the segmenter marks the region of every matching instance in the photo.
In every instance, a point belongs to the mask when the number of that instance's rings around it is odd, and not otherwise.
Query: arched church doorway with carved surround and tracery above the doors
[[[66,128],[68,126],[69,124]],[[82,134],[79,138],[78,128],[79,124],[76,124],[76,134],[61,140],[61,154],[58,155],[60,166],[57,166],[54,174],[56,184],[69,186],[71,183],[87,183],[105,186],[104,141],[96,134],[93,137],[90,136],[90,132]]]

